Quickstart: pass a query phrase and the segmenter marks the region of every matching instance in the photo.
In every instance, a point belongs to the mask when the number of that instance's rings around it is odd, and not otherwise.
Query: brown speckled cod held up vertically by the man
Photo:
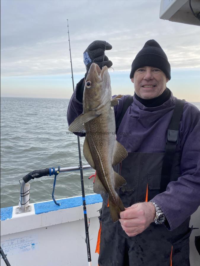
[[[83,154],[96,170],[94,192],[108,193],[109,209],[113,222],[119,220],[124,205],[116,190],[126,184],[113,166],[127,157],[127,150],[116,140],[113,106],[119,103],[118,95],[112,100],[111,81],[106,66],[92,63],[86,78],[83,95],[83,113],[69,126],[71,132],[86,132]]]

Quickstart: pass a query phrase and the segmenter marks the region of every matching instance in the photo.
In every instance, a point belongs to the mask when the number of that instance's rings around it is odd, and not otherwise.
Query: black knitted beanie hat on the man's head
[[[140,67],[157,67],[165,73],[169,80],[171,79],[171,67],[167,56],[155,40],[148,40],[135,56],[131,66],[130,79],[134,76],[135,70]]]

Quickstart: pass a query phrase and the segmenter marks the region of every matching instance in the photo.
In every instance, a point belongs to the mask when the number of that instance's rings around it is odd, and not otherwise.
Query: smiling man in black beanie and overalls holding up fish
[[[91,43],[84,52],[87,72],[93,61],[110,67],[104,51],[111,48]],[[123,118],[128,95],[114,108],[116,121],[122,118],[117,140],[128,152],[115,167],[127,181],[119,189],[127,208],[113,223],[102,194],[99,266],[188,266],[190,215],[200,204],[200,112],[167,88],[170,64],[155,40],[136,55],[130,79],[135,94]],[[84,79],[69,103],[69,125],[82,113],[83,90]]]

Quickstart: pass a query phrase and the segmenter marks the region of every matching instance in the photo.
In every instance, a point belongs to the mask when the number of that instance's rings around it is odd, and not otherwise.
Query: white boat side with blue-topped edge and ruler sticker
[[[1,209],[1,248],[7,254],[11,266],[86,266],[98,265],[95,253],[99,230],[100,195],[86,196],[87,217],[90,218],[89,238],[92,263],[87,261],[85,226],[82,197],[72,197],[30,204],[32,211],[15,214],[16,207]],[[6,219],[7,218],[7,219]],[[192,215],[191,225],[200,225],[200,208]],[[194,237],[200,235],[195,229],[190,237],[191,266],[199,265],[199,254]],[[3,259],[1,265],[5,265]]]

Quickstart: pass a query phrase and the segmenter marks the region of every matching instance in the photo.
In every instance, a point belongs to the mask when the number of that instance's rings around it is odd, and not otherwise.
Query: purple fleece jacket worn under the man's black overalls
[[[76,90],[77,85],[68,106],[69,125],[83,112],[83,104],[77,100]],[[119,105],[114,107],[116,119],[127,96],[124,95]],[[133,103],[119,126],[117,140],[128,152],[165,152],[167,127],[176,100],[171,93],[169,100],[161,106],[147,108],[133,96]],[[181,176],[177,181],[170,182],[165,192],[153,198],[164,212],[170,231],[183,223],[200,205],[200,111],[188,102],[183,108],[176,151],[182,154]]]

